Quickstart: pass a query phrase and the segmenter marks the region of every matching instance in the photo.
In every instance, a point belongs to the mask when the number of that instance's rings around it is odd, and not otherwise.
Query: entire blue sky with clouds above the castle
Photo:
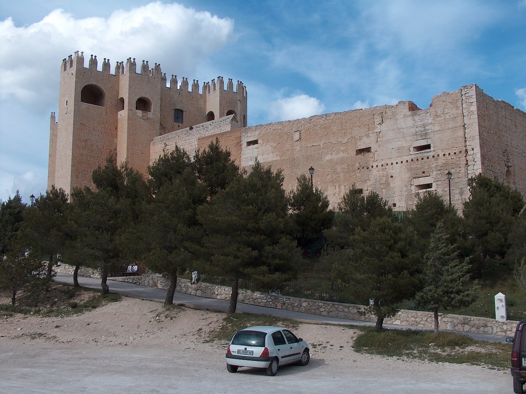
[[[60,61],[76,50],[112,68],[135,57],[201,84],[241,80],[249,125],[425,108],[470,83],[526,110],[526,0],[18,0],[0,2],[0,42],[1,200],[45,192]]]

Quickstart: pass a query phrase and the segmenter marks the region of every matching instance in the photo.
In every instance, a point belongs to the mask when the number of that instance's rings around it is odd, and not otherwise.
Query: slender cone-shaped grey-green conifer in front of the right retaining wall
[[[443,223],[439,222],[424,255],[423,288],[415,297],[421,307],[433,310],[435,333],[438,333],[439,310],[468,306],[476,296],[477,281],[469,285],[469,260],[460,260],[457,254],[454,245],[448,242]]]

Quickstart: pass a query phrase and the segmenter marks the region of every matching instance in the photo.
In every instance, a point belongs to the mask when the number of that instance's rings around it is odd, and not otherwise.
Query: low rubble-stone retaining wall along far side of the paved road
[[[161,289],[167,289],[169,285],[168,280],[157,274],[144,274],[138,277],[119,277],[111,279],[121,282],[142,284]],[[230,299],[231,293],[231,288],[227,286],[220,286],[204,282],[191,284],[190,281],[186,279],[177,280],[176,290],[181,293],[194,294],[195,296],[208,298],[218,298],[222,300]],[[375,316],[362,316],[359,314],[358,311],[362,308],[362,306],[354,304],[308,300],[304,298],[288,297],[282,296],[280,294],[268,294],[244,289],[239,290],[238,301],[263,307],[321,314],[323,316],[362,321],[376,321]],[[407,326],[408,328],[433,328],[434,317],[432,312],[402,309],[394,317],[385,319],[384,323],[399,324],[400,326]],[[495,319],[440,313],[439,328],[444,330],[476,332],[511,337],[515,332],[517,323],[517,321],[512,320],[508,320],[507,322],[499,322]]]

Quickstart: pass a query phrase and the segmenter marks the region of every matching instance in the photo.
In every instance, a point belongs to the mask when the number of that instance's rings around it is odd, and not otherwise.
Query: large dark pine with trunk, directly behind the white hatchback
[[[291,237],[288,199],[281,171],[256,162],[246,178],[232,181],[209,204],[198,209],[206,229],[207,272],[232,279],[229,313],[237,306],[239,279],[266,289],[294,277],[301,259]]]

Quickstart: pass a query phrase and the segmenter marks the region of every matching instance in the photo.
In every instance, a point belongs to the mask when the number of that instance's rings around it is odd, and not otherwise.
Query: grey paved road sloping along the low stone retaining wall
[[[56,281],[73,284],[73,275],[65,273],[57,273]],[[91,289],[100,289],[100,279],[78,277],[78,283],[81,286]],[[145,300],[163,301],[166,298],[166,290],[157,289],[154,287],[141,286],[138,284],[108,281],[109,291],[113,293],[123,294],[124,296],[143,298]],[[188,307],[207,308],[211,310],[227,311],[229,301],[218,300],[215,298],[207,298],[200,296],[193,296],[191,294],[175,293],[174,303],[185,304]],[[284,317],[289,319],[305,320],[314,323],[329,323],[329,324],[355,324],[357,326],[374,326],[375,323],[369,321],[351,320],[343,318],[333,318],[330,316],[322,316],[320,314],[289,311],[286,309],[277,309],[270,307],[261,307],[258,305],[246,304],[243,302],[237,303],[237,311],[255,314],[268,314],[270,316]],[[407,327],[399,326],[397,324],[383,324],[383,327],[391,329],[407,329]],[[413,328],[414,329],[414,328]],[[423,330],[423,329],[422,329]],[[456,332],[451,330],[440,330],[446,332]],[[505,337],[489,334],[478,334],[473,332],[461,332],[473,339],[491,342],[505,342]]]

